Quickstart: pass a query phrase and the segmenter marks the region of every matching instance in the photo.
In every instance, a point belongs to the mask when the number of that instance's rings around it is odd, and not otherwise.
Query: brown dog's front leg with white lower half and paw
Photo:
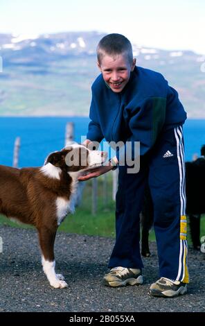
[[[48,281],[54,288],[65,288],[68,286],[61,274],[55,273],[54,242],[56,230],[41,228],[39,232],[39,243],[42,250],[42,266]]]

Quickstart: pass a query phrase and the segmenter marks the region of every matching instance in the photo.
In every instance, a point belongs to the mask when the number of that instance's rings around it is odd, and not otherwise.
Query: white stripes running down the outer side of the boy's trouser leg
[[[175,138],[177,141],[177,160],[179,164],[179,196],[180,196],[180,232],[181,232],[181,218],[186,214],[186,193],[185,193],[185,163],[184,163],[184,145],[182,136],[182,127],[175,128]],[[184,217],[184,219],[186,216]],[[184,224],[186,220],[183,221]],[[186,273],[186,255],[187,255],[187,243],[186,234],[184,239],[180,239],[179,250],[179,269],[177,274],[177,281],[184,280]],[[183,238],[183,237],[182,237]]]

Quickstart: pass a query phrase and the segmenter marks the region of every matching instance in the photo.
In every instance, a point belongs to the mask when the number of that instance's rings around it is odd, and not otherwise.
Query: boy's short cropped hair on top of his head
[[[132,64],[132,44],[124,35],[112,33],[105,35],[97,46],[97,58],[100,63],[103,56],[107,53],[108,55],[119,55],[125,53],[127,59]]]

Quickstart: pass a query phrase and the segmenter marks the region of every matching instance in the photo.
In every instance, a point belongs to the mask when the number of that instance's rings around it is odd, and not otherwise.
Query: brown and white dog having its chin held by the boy
[[[106,158],[106,152],[74,144],[48,155],[42,167],[0,165],[0,213],[37,228],[43,270],[54,288],[67,286],[63,275],[55,273],[57,227],[75,210],[80,173],[102,165]]]

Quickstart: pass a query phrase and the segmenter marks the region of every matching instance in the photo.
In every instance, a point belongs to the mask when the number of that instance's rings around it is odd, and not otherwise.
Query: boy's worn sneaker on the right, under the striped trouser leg
[[[187,284],[179,281],[172,281],[166,277],[161,277],[150,286],[150,294],[157,297],[176,297],[187,292]]]

